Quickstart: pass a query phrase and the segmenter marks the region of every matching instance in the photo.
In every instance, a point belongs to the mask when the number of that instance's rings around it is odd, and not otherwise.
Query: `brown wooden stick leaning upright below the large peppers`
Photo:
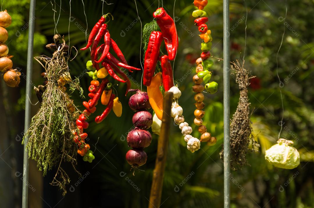
[[[164,112],[162,114],[162,124],[160,129],[160,136],[158,139],[156,163],[153,172],[153,182],[150,189],[148,208],[160,207],[162,183],[165,173],[168,141],[171,124],[171,103],[173,101],[173,93],[165,92],[164,96]]]

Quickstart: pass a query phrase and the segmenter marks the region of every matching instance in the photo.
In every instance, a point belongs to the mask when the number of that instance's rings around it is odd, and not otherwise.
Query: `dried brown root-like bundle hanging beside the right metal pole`
[[[249,85],[247,70],[238,60],[231,62],[231,70],[235,72],[236,83],[238,83],[240,89],[238,106],[230,124],[230,166],[232,170],[237,170],[247,164],[246,153],[252,139],[251,103],[247,96],[247,86]],[[253,145],[258,145],[254,140],[252,142]],[[220,153],[221,158],[223,158],[223,154],[224,150]]]

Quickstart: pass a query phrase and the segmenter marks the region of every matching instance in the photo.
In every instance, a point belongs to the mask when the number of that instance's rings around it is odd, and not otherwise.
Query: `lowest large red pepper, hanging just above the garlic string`
[[[160,60],[162,69],[162,86],[165,91],[168,91],[174,86],[171,63],[167,55],[160,57]]]

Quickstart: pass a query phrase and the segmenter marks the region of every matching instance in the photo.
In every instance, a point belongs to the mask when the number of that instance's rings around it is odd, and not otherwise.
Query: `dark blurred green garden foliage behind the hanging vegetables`
[[[142,24],[150,22],[152,13],[159,2],[136,0]],[[55,20],[57,31],[65,36],[70,46],[81,48],[85,44],[85,30],[90,32],[92,26],[102,14],[101,1],[86,1],[86,24],[82,1],[36,1],[34,56],[51,54],[45,48],[52,42]],[[111,1],[104,4],[104,14],[110,12],[114,20],[109,23],[111,37],[116,40],[130,65],[140,67],[140,34],[141,24],[138,21],[134,1]],[[61,4],[61,8],[60,8]],[[160,1],[161,5],[161,1]],[[314,2],[311,0],[287,1],[288,14],[285,15],[285,1],[246,1],[247,38],[245,40],[246,7],[242,0],[230,2],[230,41],[231,60],[243,57],[246,41],[245,68],[251,75],[249,98],[252,110],[252,127],[255,140],[261,145],[258,152],[248,154],[250,166],[231,172],[231,207],[248,208],[308,208],[314,207]],[[164,1],[167,12],[173,15],[174,1]],[[53,12],[55,8],[56,12]],[[11,14],[13,22],[8,27],[7,41],[9,53],[15,68],[21,68],[26,74],[26,54],[28,38],[29,0],[4,0],[3,9]],[[180,104],[188,123],[193,118],[192,76],[195,59],[200,53],[200,39],[197,28],[193,25],[191,13],[194,7],[192,0],[176,1],[174,16],[179,35],[179,51],[174,64],[174,78],[179,84],[182,96]],[[209,0],[205,8],[209,15],[208,27],[212,30],[212,55],[222,57],[222,1]],[[71,12],[71,13],[70,13]],[[71,18],[70,18],[71,17]],[[68,31],[68,24],[70,28]],[[283,46],[278,55],[278,71],[284,99],[284,113],[281,108],[279,80],[276,74],[276,53],[282,38]],[[70,34],[70,40],[68,33]],[[74,52],[74,51],[73,51]],[[71,76],[79,76],[85,69],[89,59],[89,51],[79,51],[76,58],[69,62]],[[72,56],[73,57],[73,56]],[[169,154],[164,178],[161,207],[223,207],[223,162],[219,152],[223,143],[223,87],[222,62],[214,60],[213,80],[219,84],[219,91],[214,95],[206,95],[206,116],[203,119],[209,131],[217,136],[217,144],[190,153],[186,149],[181,132],[177,126],[171,125]],[[34,85],[42,83],[40,77],[43,69],[34,61]],[[139,88],[141,72],[133,72],[135,81],[133,88]],[[239,89],[234,79],[231,81],[231,113],[236,109]],[[87,97],[90,78],[85,74],[80,79]],[[0,130],[0,199],[1,207],[20,207],[22,195],[23,146],[21,137],[24,130],[25,84],[21,78],[19,88],[7,87],[1,79],[2,115]],[[153,136],[152,144],[145,149],[147,163],[141,167],[143,171],[130,172],[125,161],[125,153],[129,149],[125,140],[132,127],[133,112],[128,110],[127,101],[130,95],[123,96],[125,85],[118,86],[119,100],[123,104],[123,116],[116,118],[111,113],[100,124],[90,122],[87,133],[89,144],[95,150],[96,159],[87,163],[78,157],[78,170],[83,178],[73,172],[71,166],[66,167],[71,182],[68,194],[62,197],[57,187],[49,183],[52,170],[46,177],[37,171],[36,163],[30,160],[29,171],[29,207],[147,207],[152,170],[156,155],[157,136]],[[145,88],[143,88],[145,90]],[[73,96],[76,105],[81,105],[78,94]],[[32,103],[37,102],[33,92]],[[82,106],[81,106],[82,107]],[[34,115],[39,104],[32,106]],[[83,109],[83,108],[82,108]],[[103,109],[97,107],[100,114]],[[273,145],[280,130],[279,121],[284,114],[281,137],[293,140],[300,152],[300,165],[293,170],[284,170],[268,165],[264,160],[264,152]],[[196,129],[193,126],[193,129]],[[195,135],[199,136],[194,130]]]

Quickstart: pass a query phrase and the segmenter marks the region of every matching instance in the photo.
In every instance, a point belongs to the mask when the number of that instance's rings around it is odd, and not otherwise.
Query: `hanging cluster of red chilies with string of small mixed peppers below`
[[[99,19],[89,35],[86,47],[80,49],[86,50],[91,47],[91,60],[86,63],[86,68],[90,70],[88,75],[93,80],[90,82],[90,86],[88,88],[88,96],[90,97],[90,100],[88,102],[83,102],[83,106],[86,109],[76,119],[76,125],[79,132],[75,131],[73,134],[75,136],[74,142],[78,145],[78,154],[83,156],[84,161],[88,162],[92,162],[93,159],[95,159],[95,156],[93,155],[93,152],[89,150],[90,146],[84,142],[87,138],[87,134],[83,133],[83,129],[88,128],[89,123],[86,121],[87,117],[96,111],[98,101],[100,100],[101,104],[106,106],[106,109],[101,115],[95,118],[96,123],[102,122],[112,109],[117,117],[122,115],[122,104],[119,101],[119,98],[112,93],[113,85],[109,82],[108,75],[119,82],[127,84],[127,90],[125,93],[125,95],[127,95],[127,92],[131,87],[131,82],[127,75],[124,74],[119,67],[126,68],[129,72],[133,72],[132,70],[140,70],[139,68],[135,68],[127,64],[120,48],[110,37],[107,25],[109,20],[106,21],[109,14],[110,13],[103,15]],[[98,46],[102,38],[104,38],[104,43]],[[113,49],[120,61],[109,52],[110,48]],[[102,68],[100,68],[99,63],[103,66]],[[116,73],[122,78],[120,78]],[[101,79],[101,82],[97,79]]]

